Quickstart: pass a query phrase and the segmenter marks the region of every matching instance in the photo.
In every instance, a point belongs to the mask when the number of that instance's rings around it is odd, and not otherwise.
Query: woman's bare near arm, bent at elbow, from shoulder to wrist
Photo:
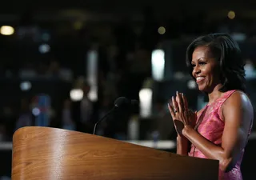
[[[182,134],[207,158],[217,159],[221,170],[227,171],[234,166],[240,150],[246,146],[253,109],[245,94],[235,92],[224,103],[222,114],[225,120],[222,146],[214,145],[190,126],[185,126]]]

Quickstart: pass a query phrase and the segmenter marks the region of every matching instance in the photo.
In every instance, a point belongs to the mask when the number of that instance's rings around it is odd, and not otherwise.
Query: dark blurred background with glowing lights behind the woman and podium
[[[15,130],[50,126],[92,134],[120,96],[139,105],[111,114],[96,134],[175,152],[170,97],[183,92],[193,110],[207,102],[187,74],[186,46],[216,32],[239,43],[255,106],[255,1],[2,2],[0,179],[10,179]],[[254,132],[255,126],[244,179],[255,177]]]

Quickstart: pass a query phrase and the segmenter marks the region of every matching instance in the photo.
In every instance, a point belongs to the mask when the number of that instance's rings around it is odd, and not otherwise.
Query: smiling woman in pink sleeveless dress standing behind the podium
[[[219,179],[242,180],[240,165],[254,110],[246,96],[238,44],[227,34],[199,37],[187,48],[186,64],[209,103],[193,113],[184,94],[172,97],[169,110],[178,132],[177,154],[217,159]]]

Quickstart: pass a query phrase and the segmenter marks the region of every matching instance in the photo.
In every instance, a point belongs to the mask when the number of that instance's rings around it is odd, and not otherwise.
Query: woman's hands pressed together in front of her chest
[[[188,107],[186,96],[182,93],[176,92],[176,97],[171,98],[168,103],[171,117],[174,121],[174,126],[179,135],[182,135],[184,127],[194,128],[197,112],[193,112]]]

